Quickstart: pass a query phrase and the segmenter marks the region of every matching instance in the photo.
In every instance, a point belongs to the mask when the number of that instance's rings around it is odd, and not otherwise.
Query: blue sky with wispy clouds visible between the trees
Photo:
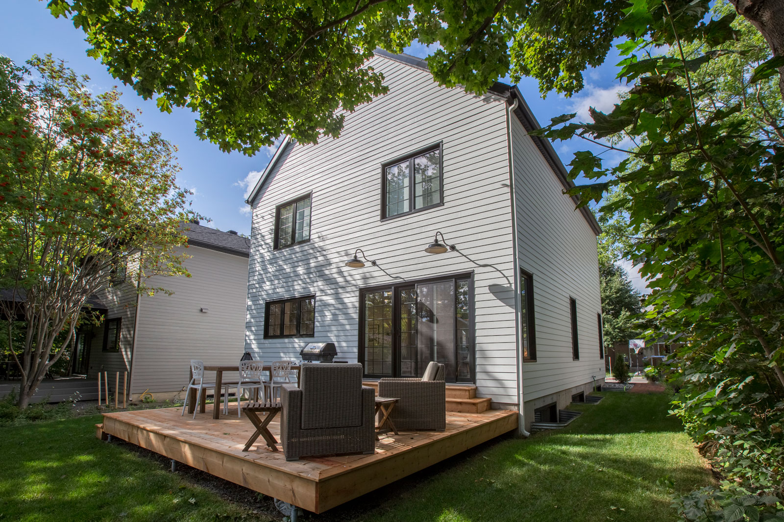
[[[182,109],[161,113],[153,100],[143,100],[131,88],[119,85],[107,73],[106,67],[86,55],[85,50],[89,45],[85,43],[82,31],[74,28],[69,20],[51,16],[46,9],[46,2],[14,0],[3,3],[0,54],[21,64],[34,54],[51,52],[56,59],[66,60],[77,74],[87,74],[90,77],[89,88],[93,92],[102,92],[118,85],[123,93],[122,103],[128,108],[138,107],[142,110],[139,120],[145,130],[160,132],[179,149],[182,171],[178,182],[194,192],[194,210],[211,218],[211,226],[249,235],[250,215],[245,205],[247,185],[267,166],[273,149],[263,149],[255,157],[246,157],[241,153],[223,153],[212,143],[202,142],[194,134],[194,113]],[[427,54],[423,45],[414,45],[408,52],[422,57]],[[572,99],[555,92],[542,99],[536,81],[531,78],[525,78],[519,87],[542,124],[549,122],[551,117],[568,112],[578,112],[586,119],[589,106],[612,110],[612,104],[617,101],[617,92],[625,90],[615,80],[615,63],[618,62],[618,57],[612,55],[601,67],[587,71],[586,88]],[[587,142],[580,139],[557,142],[554,147],[564,164],[572,160],[575,151],[590,148]],[[605,153],[605,157],[617,161],[620,160],[617,154]]]

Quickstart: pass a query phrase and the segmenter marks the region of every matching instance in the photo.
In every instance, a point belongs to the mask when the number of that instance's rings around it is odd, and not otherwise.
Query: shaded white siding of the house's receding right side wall
[[[533,275],[536,362],[523,365],[524,401],[604,376],[601,312],[593,230],[532,139],[512,119],[520,268]],[[577,301],[579,361],[572,360],[569,297]]]

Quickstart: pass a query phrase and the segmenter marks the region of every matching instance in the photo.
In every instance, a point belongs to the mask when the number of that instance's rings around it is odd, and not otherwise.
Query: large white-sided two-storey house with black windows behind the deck
[[[346,113],[339,139],[285,139],[247,200],[245,349],[270,361],[332,341],[368,380],[437,359],[493,407],[523,404],[529,426],[604,380],[599,226],[528,135],[517,88],[440,87],[412,56],[370,65],[388,94]],[[426,253],[437,232],[455,250]]]

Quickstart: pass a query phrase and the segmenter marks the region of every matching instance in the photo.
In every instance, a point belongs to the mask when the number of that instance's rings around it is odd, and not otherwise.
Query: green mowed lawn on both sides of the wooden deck
[[[555,434],[507,439],[438,473],[310,520],[521,522],[674,520],[670,496],[710,473],[666,416],[664,394],[608,393]],[[159,463],[98,441],[90,416],[0,428],[2,520],[267,520],[185,483]],[[192,501],[192,502],[191,502]]]

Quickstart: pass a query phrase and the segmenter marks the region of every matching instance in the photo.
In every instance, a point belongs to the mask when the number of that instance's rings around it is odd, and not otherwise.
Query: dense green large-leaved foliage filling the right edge
[[[630,225],[628,253],[652,279],[647,317],[683,343],[672,363],[686,379],[676,412],[688,430],[728,487],[780,497],[784,114],[778,77],[754,78],[771,58],[759,34],[725,5],[707,8],[634,2],[621,25],[645,20],[648,31],[619,44],[629,95],[611,113],[555,119],[543,134],[629,144],[617,167],[575,154],[572,176],[597,182],[572,192],[586,204],[615,191],[601,212]],[[709,500],[701,514],[682,506],[684,517],[719,520]],[[721,513],[735,517],[732,502]],[[748,506],[757,515],[742,517],[771,515],[768,503]]]

